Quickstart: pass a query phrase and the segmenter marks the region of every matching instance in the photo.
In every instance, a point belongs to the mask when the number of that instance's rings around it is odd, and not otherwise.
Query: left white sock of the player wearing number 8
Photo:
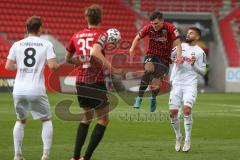
[[[13,141],[14,141],[14,150],[15,156],[22,155],[22,142],[24,137],[24,124],[17,121],[13,128]]]

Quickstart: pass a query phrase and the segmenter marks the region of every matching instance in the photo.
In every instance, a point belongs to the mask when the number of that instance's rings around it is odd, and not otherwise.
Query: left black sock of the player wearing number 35
[[[76,136],[76,142],[75,142],[75,148],[74,148],[74,155],[73,158],[79,159],[82,146],[85,142],[85,139],[87,137],[89,124],[80,123],[77,131]]]

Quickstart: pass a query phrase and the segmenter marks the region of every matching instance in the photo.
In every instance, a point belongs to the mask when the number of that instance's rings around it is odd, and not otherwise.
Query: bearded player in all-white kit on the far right
[[[197,45],[201,37],[201,31],[196,27],[190,27],[187,31],[186,43],[182,43],[182,55],[184,62],[174,64],[170,82],[172,90],[169,97],[169,110],[171,124],[176,134],[175,150],[181,149],[182,134],[180,132],[180,107],[183,105],[185,143],[182,151],[190,150],[190,138],[192,131],[192,107],[197,97],[197,77],[204,74],[206,69],[206,56],[204,51]],[[173,49],[173,54],[176,50]]]

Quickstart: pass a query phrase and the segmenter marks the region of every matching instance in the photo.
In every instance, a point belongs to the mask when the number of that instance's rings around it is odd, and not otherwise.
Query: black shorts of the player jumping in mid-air
[[[163,63],[163,61],[157,56],[145,56],[144,64],[152,62],[154,64],[153,76],[155,78],[162,78],[164,74],[168,74],[169,65]]]

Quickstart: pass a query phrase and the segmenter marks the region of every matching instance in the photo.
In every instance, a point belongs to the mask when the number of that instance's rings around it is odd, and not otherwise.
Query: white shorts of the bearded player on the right
[[[196,85],[173,85],[169,97],[169,109],[179,109],[182,105],[192,108],[196,98]]]

